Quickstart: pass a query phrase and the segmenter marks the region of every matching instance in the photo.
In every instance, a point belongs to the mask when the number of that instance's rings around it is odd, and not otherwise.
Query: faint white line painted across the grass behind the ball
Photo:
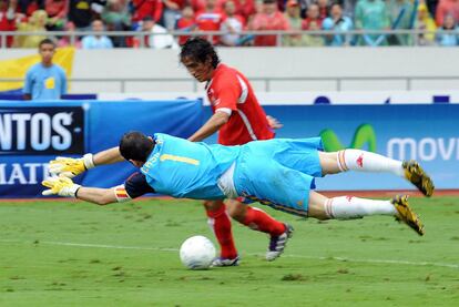
[[[0,239],[0,243],[30,244],[31,242]],[[122,246],[122,245],[71,243],[71,242],[52,242],[52,241],[40,241],[39,244],[73,246],[73,247],[89,247],[89,248],[135,249],[135,250],[174,252],[174,253],[178,252],[177,248]],[[259,253],[246,253],[246,255],[248,255],[248,256],[264,256],[264,254],[259,254]],[[283,255],[283,257],[315,259],[315,260],[336,260],[336,262],[343,262],[343,263],[394,264],[394,265],[411,265],[411,266],[438,266],[438,267],[448,267],[448,268],[459,269],[458,264],[429,263],[429,262],[407,262],[407,260],[395,260],[395,259],[354,259],[354,258],[346,258],[346,257],[338,257],[338,256],[313,257],[313,256],[292,255],[292,254],[285,254],[285,255]]]

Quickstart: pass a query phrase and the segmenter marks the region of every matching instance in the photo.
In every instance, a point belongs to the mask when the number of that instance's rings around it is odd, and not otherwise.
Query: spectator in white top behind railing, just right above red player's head
[[[236,6],[230,0],[224,6],[225,18],[220,30],[224,32],[221,41],[224,45],[234,47],[241,42],[241,32],[244,28],[244,19],[236,14]]]

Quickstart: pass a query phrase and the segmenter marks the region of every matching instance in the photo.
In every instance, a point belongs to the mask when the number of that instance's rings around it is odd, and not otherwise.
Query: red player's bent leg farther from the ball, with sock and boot
[[[241,224],[269,235],[269,245],[266,252],[268,262],[275,260],[284,252],[288,238],[293,235],[293,227],[269,216],[266,212],[242,204],[236,199],[228,199],[226,206],[231,217]]]

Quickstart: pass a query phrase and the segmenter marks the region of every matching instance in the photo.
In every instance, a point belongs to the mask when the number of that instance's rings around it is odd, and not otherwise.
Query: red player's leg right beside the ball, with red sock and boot
[[[233,239],[230,216],[223,201],[206,201],[204,207],[207,214],[208,226],[215,234],[221,248],[221,255],[214,266],[234,266],[238,264],[237,249]]]

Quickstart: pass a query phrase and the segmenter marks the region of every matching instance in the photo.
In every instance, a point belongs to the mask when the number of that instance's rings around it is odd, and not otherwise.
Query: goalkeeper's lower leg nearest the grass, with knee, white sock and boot
[[[389,215],[424,235],[419,217],[408,205],[408,196],[396,196],[389,201],[340,196],[328,198],[317,192],[309,193],[308,217],[318,219],[355,219],[369,215]]]

